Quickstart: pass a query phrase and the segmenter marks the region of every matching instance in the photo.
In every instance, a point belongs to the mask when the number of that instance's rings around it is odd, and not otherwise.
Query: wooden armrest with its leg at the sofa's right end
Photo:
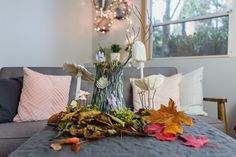
[[[225,125],[225,132],[228,132],[227,126],[227,116],[226,116],[226,109],[225,103],[227,102],[226,98],[203,98],[203,101],[215,102],[217,103],[217,112],[218,112],[218,119],[222,120]]]

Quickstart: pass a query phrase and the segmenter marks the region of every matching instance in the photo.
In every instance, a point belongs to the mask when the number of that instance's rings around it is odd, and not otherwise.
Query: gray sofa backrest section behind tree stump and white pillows
[[[95,76],[95,67],[86,67]],[[171,76],[177,73],[175,67],[145,67],[144,76],[149,76],[153,74],[162,74],[164,76]],[[133,67],[124,68],[124,98],[127,107],[133,109],[133,99],[132,99],[132,87],[130,84],[130,78],[140,78],[140,72]],[[81,89],[93,93],[94,82],[81,81]],[[90,98],[91,99],[91,98]],[[88,101],[90,101],[90,99]]]

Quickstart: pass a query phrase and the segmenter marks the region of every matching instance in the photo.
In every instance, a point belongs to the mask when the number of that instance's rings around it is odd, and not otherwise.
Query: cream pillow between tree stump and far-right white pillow
[[[156,88],[156,92],[151,90],[151,96],[154,94],[154,108],[159,109],[160,105],[167,105],[169,98],[173,99],[177,105],[177,110],[180,110],[180,100],[179,100],[179,84],[182,79],[181,74],[176,74],[170,77],[165,77],[163,75],[152,75],[149,77],[164,77],[164,81]],[[137,112],[142,108],[142,103],[140,100],[139,92],[141,89],[135,84],[136,79],[130,79],[133,88],[133,106],[134,111]],[[145,93],[144,103],[148,104],[148,94]]]

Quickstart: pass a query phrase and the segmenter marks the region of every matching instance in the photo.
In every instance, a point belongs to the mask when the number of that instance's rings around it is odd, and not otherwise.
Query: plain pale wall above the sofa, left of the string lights
[[[91,10],[88,0],[1,0],[0,67],[90,62]]]

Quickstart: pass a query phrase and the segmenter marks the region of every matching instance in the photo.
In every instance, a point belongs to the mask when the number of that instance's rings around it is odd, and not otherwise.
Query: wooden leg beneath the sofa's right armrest
[[[224,122],[225,133],[228,133],[228,125],[227,125],[227,117],[226,117],[226,109],[225,109],[225,102],[218,102],[218,119]]]

